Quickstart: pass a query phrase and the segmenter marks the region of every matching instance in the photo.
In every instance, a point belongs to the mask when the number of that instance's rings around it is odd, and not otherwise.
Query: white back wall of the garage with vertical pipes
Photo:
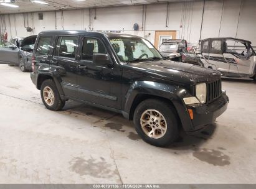
[[[241,1],[242,8],[240,11]],[[223,2],[224,11],[222,12]],[[203,5],[204,2],[202,0],[169,2],[167,26],[167,3],[146,5],[144,29],[142,5],[97,8],[96,19],[94,19],[95,9],[63,11],[63,19],[62,11],[43,12],[44,20],[42,21],[39,21],[37,12],[25,13],[26,25],[28,18],[29,27],[34,27],[33,32],[26,32],[23,14],[6,14],[0,17],[0,29],[3,32],[2,23],[5,21],[9,38],[16,35],[28,36],[38,34],[42,30],[63,28],[124,30],[125,33],[140,36],[150,33],[149,40],[151,42],[154,42],[155,30],[177,30],[177,38],[184,38],[189,42],[197,43],[201,32]],[[218,36],[238,37],[251,40],[253,44],[256,44],[255,7],[255,0],[206,0],[201,38]],[[32,19],[33,17],[34,21]],[[14,18],[16,19],[16,25]],[[11,27],[9,21],[11,21]],[[134,23],[140,25],[140,31],[133,31]]]

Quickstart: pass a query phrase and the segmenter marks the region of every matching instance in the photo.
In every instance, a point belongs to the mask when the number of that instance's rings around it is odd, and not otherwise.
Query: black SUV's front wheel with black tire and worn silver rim
[[[148,113],[152,116],[149,117]],[[152,120],[152,118],[154,120]],[[145,120],[149,119],[151,120],[146,124]],[[163,123],[164,121],[165,126],[163,127],[161,127],[160,124],[157,124],[158,122]],[[174,142],[179,136],[178,116],[176,115],[175,109],[171,104],[159,99],[146,99],[145,101],[142,101],[135,109],[133,122],[138,135],[143,139],[143,141],[151,145],[165,147]],[[141,126],[141,123],[145,123],[144,127]],[[162,128],[163,130],[159,128]]]

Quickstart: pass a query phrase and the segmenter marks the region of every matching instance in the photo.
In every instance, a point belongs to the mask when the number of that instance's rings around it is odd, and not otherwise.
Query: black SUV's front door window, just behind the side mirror
[[[107,50],[100,39],[85,37],[83,39],[82,60],[92,60],[94,53],[107,54]]]

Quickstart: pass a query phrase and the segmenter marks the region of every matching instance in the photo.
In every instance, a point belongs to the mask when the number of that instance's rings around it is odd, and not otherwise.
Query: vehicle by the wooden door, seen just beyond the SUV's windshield
[[[159,47],[159,52],[164,58],[182,61],[182,55],[187,51],[187,41],[184,39],[165,40]]]

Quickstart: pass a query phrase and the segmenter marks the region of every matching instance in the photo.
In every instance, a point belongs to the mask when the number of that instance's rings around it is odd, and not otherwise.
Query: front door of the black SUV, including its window
[[[120,99],[110,88],[116,72],[107,65],[95,65],[94,53],[110,54],[103,44],[103,40],[95,37],[84,37],[80,45],[81,60],[78,62],[78,98],[95,104],[102,104],[110,108],[119,109]],[[116,83],[116,90],[121,90],[120,83]]]

